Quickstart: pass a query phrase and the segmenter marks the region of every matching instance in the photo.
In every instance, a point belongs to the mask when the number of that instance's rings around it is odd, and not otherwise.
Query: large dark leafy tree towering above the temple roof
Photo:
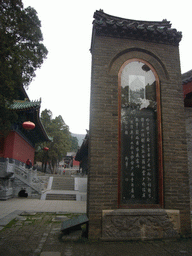
[[[24,9],[21,0],[0,0],[0,130],[10,125],[10,104],[47,56],[42,40],[35,9]]]

